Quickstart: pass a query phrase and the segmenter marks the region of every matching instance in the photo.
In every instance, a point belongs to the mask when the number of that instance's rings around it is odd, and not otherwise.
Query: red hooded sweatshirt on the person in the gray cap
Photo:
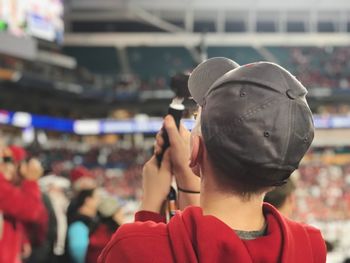
[[[287,220],[264,204],[267,234],[241,240],[225,223],[204,216],[199,207],[177,213],[168,224],[158,214],[141,211],[121,226],[99,263],[112,262],[290,262],[324,263],[326,247],[319,230]],[[158,222],[158,223],[157,223]]]

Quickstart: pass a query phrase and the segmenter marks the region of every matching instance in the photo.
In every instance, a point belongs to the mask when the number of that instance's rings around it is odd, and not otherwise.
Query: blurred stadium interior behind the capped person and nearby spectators
[[[129,221],[171,77],[216,56],[282,65],[316,126],[294,218],[322,230],[329,262],[350,256],[350,1],[0,0],[0,31],[4,140],[46,173],[85,166]]]

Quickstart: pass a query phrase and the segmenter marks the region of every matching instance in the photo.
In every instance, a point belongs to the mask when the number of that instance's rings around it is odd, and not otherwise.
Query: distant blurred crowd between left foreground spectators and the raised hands
[[[71,180],[72,169],[86,167],[89,176],[110,194],[123,199],[140,198],[142,166],[149,153],[141,148],[101,147],[88,151],[66,148],[33,149],[46,170],[56,175],[63,175]]]

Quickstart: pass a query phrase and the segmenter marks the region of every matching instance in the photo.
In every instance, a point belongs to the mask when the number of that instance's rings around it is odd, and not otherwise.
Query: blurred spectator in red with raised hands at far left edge
[[[19,187],[11,183],[15,174],[12,156],[2,151],[0,162],[0,211],[3,226],[0,237],[0,263],[21,261],[24,223],[40,222],[46,214],[37,180],[43,173],[40,162],[31,159],[21,165],[23,181]]]

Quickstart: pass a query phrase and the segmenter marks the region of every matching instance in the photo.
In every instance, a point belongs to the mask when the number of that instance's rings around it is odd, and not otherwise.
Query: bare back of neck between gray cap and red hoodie
[[[204,215],[213,215],[234,230],[258,231],[264,227],[264,194],[243,199],[234,193],[223,192],[215,185],[209,178],[202,177],[200,201]]]

